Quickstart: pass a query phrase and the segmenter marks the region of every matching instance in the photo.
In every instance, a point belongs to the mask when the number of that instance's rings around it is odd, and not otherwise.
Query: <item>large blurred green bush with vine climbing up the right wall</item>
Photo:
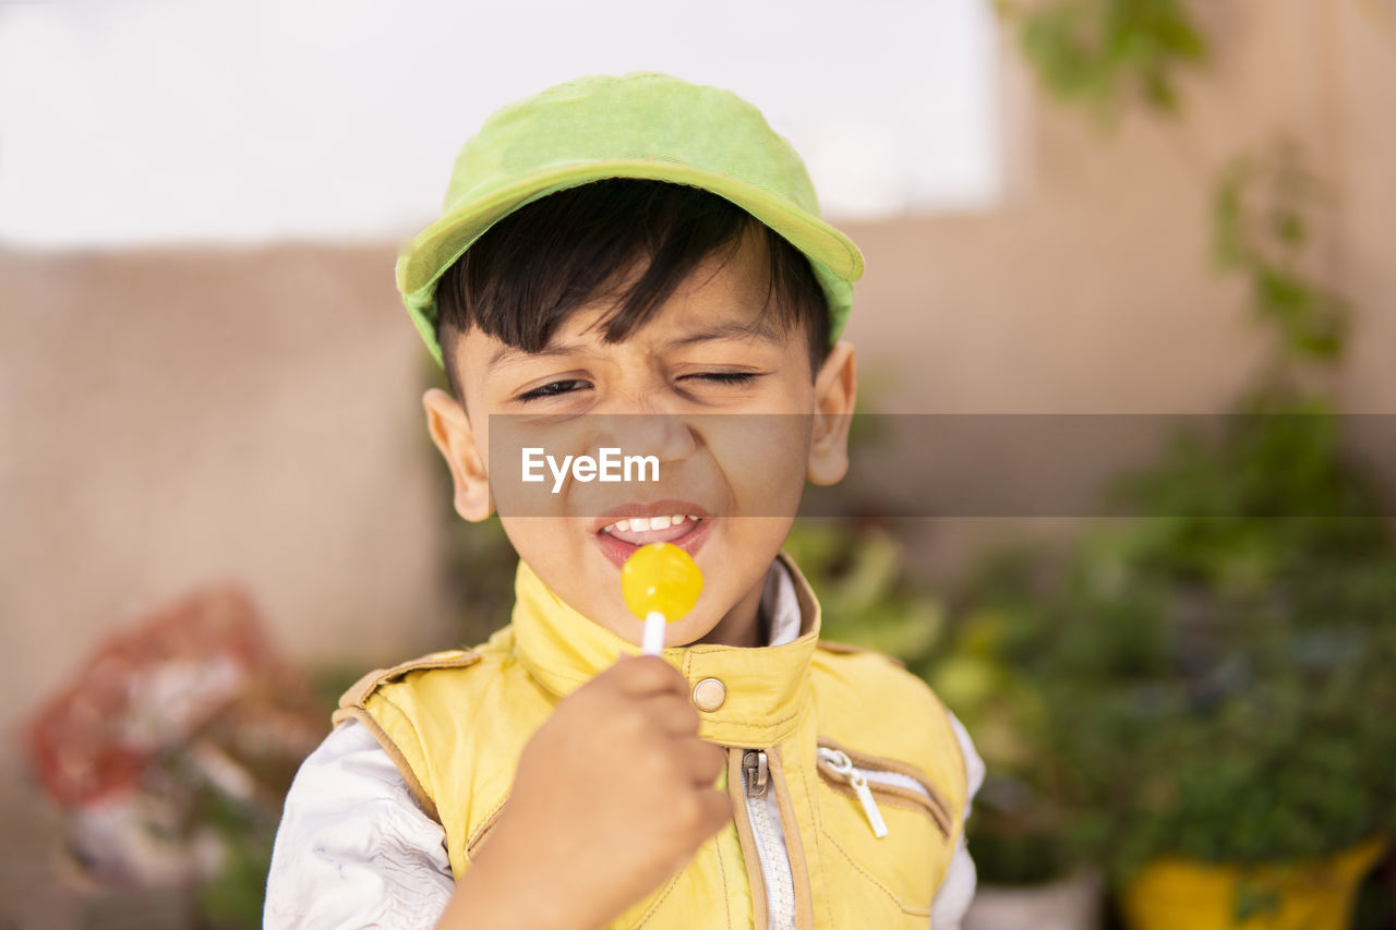
[[[994,772],[972,832],[990,881],[1314,859],[1396,828],[1396,545],[1314,388],[1347,303],[1304,271],[1312,190],[1283,142],[1217,187],[1217,256],[1273,357],[1219,430],[1115,483],[1152,517],[995,554],[952,610],[928,677]]]

